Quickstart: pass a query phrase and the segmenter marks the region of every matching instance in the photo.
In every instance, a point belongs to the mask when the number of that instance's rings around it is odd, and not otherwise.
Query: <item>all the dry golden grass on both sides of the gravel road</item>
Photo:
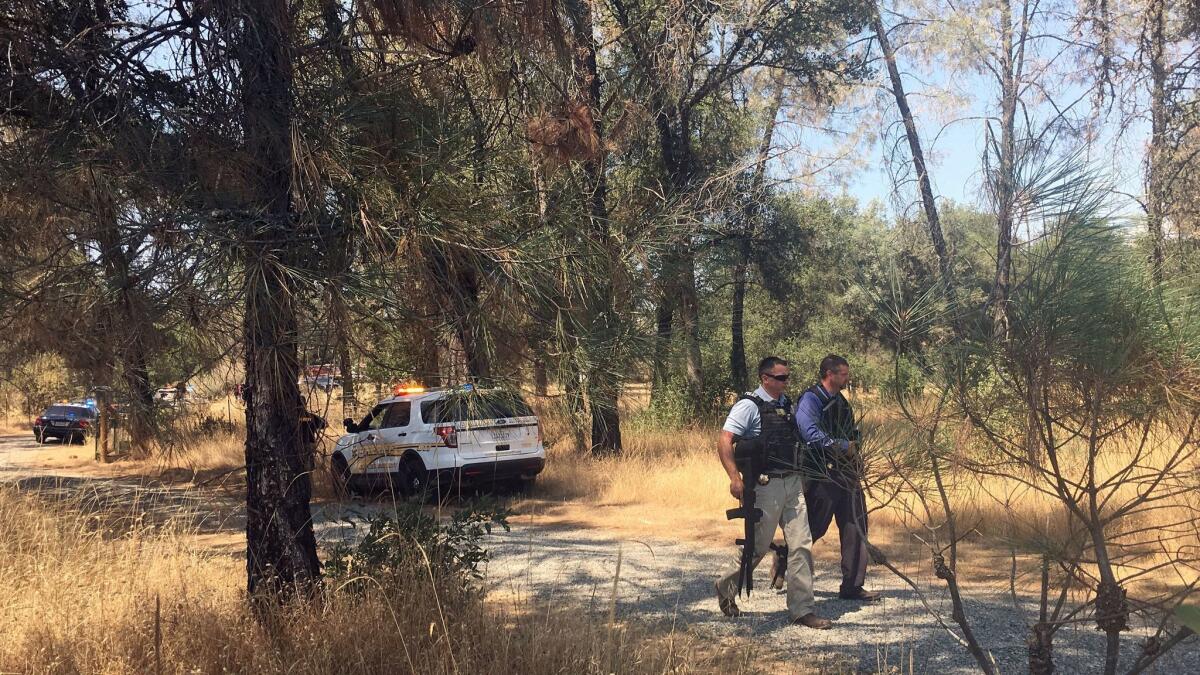
[[[626,414],[638,404],[626,401]],[[715,428],[634,426],[625,434],[623,455],[593,458],[572,446],[565,419],[553,413],[553,406],[539,410],[550,441],[548,461],[533,495],[511,503],[523,519],[712,545],[727,545],[737,534],[738,525],[724,520],[732,498],[715,459]],[[224,400],[209,411],[222,419],[238,420],[239,414]],[[331,411],[328,417],[340,414]],[[337,432],[328,431],[326,449]],[[90,450],[74,447],[64,455],[61,448],[47,447],[43,466],[193,484],[233,482],[234,488],[240,482],[236,430],[173,444],[164,458],[104,467],[90,461]],[[1102,479],[1121,466],[1120,454],[1100,462]],[[1154,453],[1145,465],[1160,460],[1162,453]],[[1038,546],[1069,533],[1063,507],[1012,478],[952,468],[948,483],[967,534],[960,550],[964,586],[1032,591]],[[324,471],[314,476],[314,496],[332,498]],[[928,575],[930,557],[920,538],[936,519],[923,513],[920,497],[931,495],[908,492],[886,504],[876,501],[871,538],[906,571]],[[1181,495],[1160,515],[1194,522],[1188,518],[1195,513],[1194,500],[1194,494]],[[268,628],[246,608],[235,550],[214,548],[186,525],[163,527],[110,515],[71,504],[47,506],[36,496],[0,490],[0,573],[23,580],[0,589],[0,634],[6,635],[0,671],[384,673],[394,663],[397,644],[418,673],[472,668],[736,673],[751,664],[744,644],[714,651],[686,632],[608,623],[569,605],[530,607],[512,597],[448,592],[434,598],[420,591],[428,586],[427,578],[365,597],[326,589],[320,602],[282,613]],[[1148,537],[1150,545],[1152,530],[1145,525],[1130,525],[1128,536]],[[1200,544],[1194,525],[1192,530],[1187,545]],[[818,565],[836,565],[834,542],[822,542],[816,554]],[[1162,562],[1172,554],[1164,549],[1147,555],[1151,562]],[[1146,575],[1133,592],[1195,581],[1190,568],[1166,566]]]

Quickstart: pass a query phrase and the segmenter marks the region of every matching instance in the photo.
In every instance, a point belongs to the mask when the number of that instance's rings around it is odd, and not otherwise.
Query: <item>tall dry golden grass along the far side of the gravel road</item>
[[[318,393],[318,395],[323,395]],[[666,521],[688,521],[689,527],[677,528],[684,536],[702,540],[725,537],[724,512],[733,504],[728,495],[725,472],[716,460],[716,426],[692,429],[656,429],[644,414],[644,392],[635,392],[622,401],[624,419],[638,419],[626,426],[625,449],[617,456],[594,456],[578,447],[570,430],[570,417],[553,399],[533,401],[539,412],[547,442],[547,464],[533,498],[538,502],[562,504],[572,514],[586,513],[598,525],[608,525],[656,532]],[[870,413],[869,434],[875,436],[878,452],[896,452],[905,440],[881,406]],[[164,458],[144,460],[144,471],[162,474],[185,470],[197,482],[209,480],[226,472],[228,480],[240,479],[242,441],[240,412],[236,402],[217,400],[203,412],[210,417],[235,420],[232,434],[218,432],[196,436],[180,443]],[[335,423],[326,429],[318,444],[318,464],[313,472],[313,494],[318,500],[336,497],[328,471],[328,453],[340,435]],[[959,448],[967,456],[970,448]],[[1117,466],[1118,456],[1104,458],[1098,467],[1100,478]],[[1163,458],[1147,458],[1147,468]],[[128,466],[134,471],[143,468]],[[984,548],[994,554],[1036,555],[1046,542],[1062,542],[1073,527],[1064,508],[1052,496],[1032,490],[1014,477],[990,476],[971,471],[967,466],[952,466],[948,476],[949,496],[964,531],[966,544]],[[913,477],[910,477],[913,478]],[[914,477],[900,495],[884,489],[870,494],[872,540],[880,545],[907,544],[913,533],[929,525],[920,507],[922,497],[932,496],[920,489],[922,478]],[[925,485],[929,488],[929,485]],[[1132,488],[1130,488],[1132,489]],[[1186,495],[1175,508],[1163,509],[1164,522],[1186,522],[1196,513],[1198,504]],[[1194,520],[1194,519],[1192,519]],[[1129,531],[1127,543],[1141,537],[1152,542],[1153,531],[1144,522],[1132,520],[1123,526]],[[1193,527],[1194,530],[1194,527]],[[1195,533],[1192,539],[1200,538]],[[1189,539],[1190,540],[1190,539]],[[895,555],[895,554],[893,554]],[[1153,555],[1164,560],[1168,554]],[[1164,568],[1165,569],[1165,568]],[[1164,572],[1165,573],[1165,572]]]

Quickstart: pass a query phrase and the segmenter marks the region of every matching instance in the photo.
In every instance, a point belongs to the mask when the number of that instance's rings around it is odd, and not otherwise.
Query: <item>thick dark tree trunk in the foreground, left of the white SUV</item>
[[[258,601],[308,592],[320,579],[300,434],[292,263],[292,79],[288,5],[239,0],[238,61],[258,219],[246,258],[246,587]]]

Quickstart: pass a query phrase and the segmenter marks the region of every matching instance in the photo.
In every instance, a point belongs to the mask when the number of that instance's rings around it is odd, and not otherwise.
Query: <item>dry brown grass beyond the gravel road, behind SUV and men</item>
[[[631,419],[644,404],[643,394],[635,393],[622,401],[625,419]],[[336,401],[313,402],[328,402],[330,410],[337,407]],[[229,410],[234,419],[241,414],[235,402],[218,400],[210,407],[212,417],[220,413],[224,418]],[[532,497],[516,503],[520,512],[546,520],[578,521],[710,544],[728,543],[733,538],[737,524],[724,518],[733,500],[715,456],[715,426],[667,431],[626,428],[625,452],[614,458],[596,458],[575,447],[566,419],[556,412],[553,401],[538,401],[535,407],[544,420],[547,466]],[[880,432],[887,435],[889,431],[882,429]],[[338,434],[335,422],[320,446],[322,456],[328,458]],[[1162,453],[1152,455],[1147,465],[1153,466],[1162,459]],[[1111,474],[1120,460],[1120,453],[1105,456],[1099,467],[1102,477]],[[229,472],[230,479],[238,479],[241,462],[241,438],[235,432],[198,440],[166,459],[145,460],[137,466],[134,462],[120,465],[122,472],[140,471],[152,476],[184,470],[199,480],[222,471]],[[326,462],[318,462],[313,474],[316,498],[335,497],[326,467]],[[1060,502],[1015,479],[956,470],[948,476],[948,483],[960,528],[971,531],[964,543],[971,554],[964,572],[974,568],[995,581],[996,574],[1007,574],[1007,560],[1001,558],[1007,558],[1012,551],[1034,556],[1046,542],[1064,540],[1070,532]],[[925,496],[932,497],[932,494],[925,492]],[[875,507],[871,526],[877,544],[888,546],[893,556],[907,556],[913,562],[928,557],[928,551],[923,552],[924,548],[913,537],[923,534],[929,524],[914,492],[882,507],[876,502]],[[1159,510],[1156,516],[1164,521],[1183,521],[1194,516],[1195,508],[1196,504],[1181,497],[1178,504]],[[1145,526],[1146,522],[1129,524],[1130,528]],[[1200,539],[1193,534],[1189,542],[1200,543]],[[834,548],[822,546],[818,552],[833,555]],[[1162,562],[1169,557],[1169,551],[1158,551],[1147,560]],[[1001,560],[998,567],[997,560]],[[1164,573],[1170,572],[1164,569]],[[1180,580],[1174,579],[1174,583]]]

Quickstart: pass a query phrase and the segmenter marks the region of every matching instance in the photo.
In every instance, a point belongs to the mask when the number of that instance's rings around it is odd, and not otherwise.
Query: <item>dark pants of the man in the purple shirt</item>
[[[808,480],[804,501],[809,507],[812,543],[829,531],[830,521],[838,522],[838,537],[841,539],[840,592],[858,591],[866,581],[866,498],[858,479]]]

